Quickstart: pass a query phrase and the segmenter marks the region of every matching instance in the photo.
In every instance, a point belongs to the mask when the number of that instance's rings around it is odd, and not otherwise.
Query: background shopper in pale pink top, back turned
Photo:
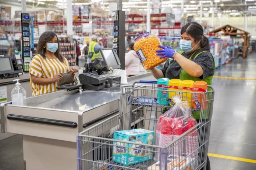
[[[139,74],[139,58],[134,51],[134,42],[130,42],[129,52],[125,55],[125,70],[127,77]]]

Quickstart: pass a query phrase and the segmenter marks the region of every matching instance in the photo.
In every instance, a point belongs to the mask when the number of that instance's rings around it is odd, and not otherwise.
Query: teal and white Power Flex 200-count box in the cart
[[[153,145],[154,132],[145,129],[131,129],[114,132],[114,139],[122,142],[113,142],[113,158],[114,162],[122,165],[132,165],[139,162],[151,160],[153,153],[152,148],[145,148],[141,144]],[[128,144],[125,142],[134,142]]]

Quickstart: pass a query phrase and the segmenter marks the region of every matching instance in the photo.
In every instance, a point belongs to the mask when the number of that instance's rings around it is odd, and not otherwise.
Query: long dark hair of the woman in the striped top
[[[38,40],[38,45],[36,47],[36,54],[40,54],[43,58],[45,58],[45,52],[46,52],[46,48],[44,47],[45,44],[49,41],[51,41],[54,37],[57,37],[57,35],[52,32],[52,31],[47,31],[44,32]],[[59,44],[59,40],[57,37],[57,42],[58,42],[58,49],[56,52],[54,52],[54,55],[61,61],[64,62],[64,57],[60,54],[60,44]]]

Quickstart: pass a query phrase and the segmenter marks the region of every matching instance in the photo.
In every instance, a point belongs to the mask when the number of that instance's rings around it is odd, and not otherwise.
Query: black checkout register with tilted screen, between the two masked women
[[[100,49],[100,57],[94,62],[85,63],[83,73],[78,76],[82,89],[100,90],[120,84],[120,76],[104,74],[120,68],[120,60],[112,48]]]

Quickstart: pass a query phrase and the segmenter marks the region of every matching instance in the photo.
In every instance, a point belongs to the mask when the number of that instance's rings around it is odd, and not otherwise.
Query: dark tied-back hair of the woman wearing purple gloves
[[[192,38],[194,38],[195,42],[200,41],[200,49],[195,51],[196,53],[202,51],[209,51],[210,52],[210,44],[209,40],[206,36],[203,35],[203,27],[197,22],[189,22],[184,25],[181,29],[181,34],[188,33]]]

